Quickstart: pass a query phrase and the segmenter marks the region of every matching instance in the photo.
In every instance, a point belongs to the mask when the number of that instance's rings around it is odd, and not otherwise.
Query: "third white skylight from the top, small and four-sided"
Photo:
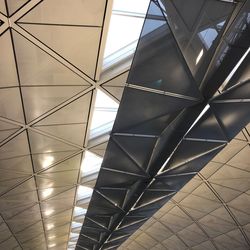
[[[89,151],[86,151],[81,164],[82,177],[98,172],[100,170],[101,164],[102,164],[101,157]]]

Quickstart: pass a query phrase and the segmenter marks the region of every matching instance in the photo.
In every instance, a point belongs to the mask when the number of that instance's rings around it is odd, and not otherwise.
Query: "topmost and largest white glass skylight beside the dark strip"
[[[149,0],[114,0],[103,69],[135,52]]]

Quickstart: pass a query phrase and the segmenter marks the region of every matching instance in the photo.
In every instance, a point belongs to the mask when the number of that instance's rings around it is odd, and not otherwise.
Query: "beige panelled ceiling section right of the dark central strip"
[[[249,249],[249,129],[243,129],[118,249]]]

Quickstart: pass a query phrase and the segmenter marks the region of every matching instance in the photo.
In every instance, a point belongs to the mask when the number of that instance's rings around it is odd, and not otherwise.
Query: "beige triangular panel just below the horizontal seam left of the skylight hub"
[[[83,90],[80,86],[23,87],[27,121],[31,122]]]

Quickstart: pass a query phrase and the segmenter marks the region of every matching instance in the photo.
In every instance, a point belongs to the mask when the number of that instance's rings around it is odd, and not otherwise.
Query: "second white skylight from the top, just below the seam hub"
[[[111,131],[118,103],[112,100],[101,90],[97,90],[96,102],[90,127],[90,139],[103,135]]]

